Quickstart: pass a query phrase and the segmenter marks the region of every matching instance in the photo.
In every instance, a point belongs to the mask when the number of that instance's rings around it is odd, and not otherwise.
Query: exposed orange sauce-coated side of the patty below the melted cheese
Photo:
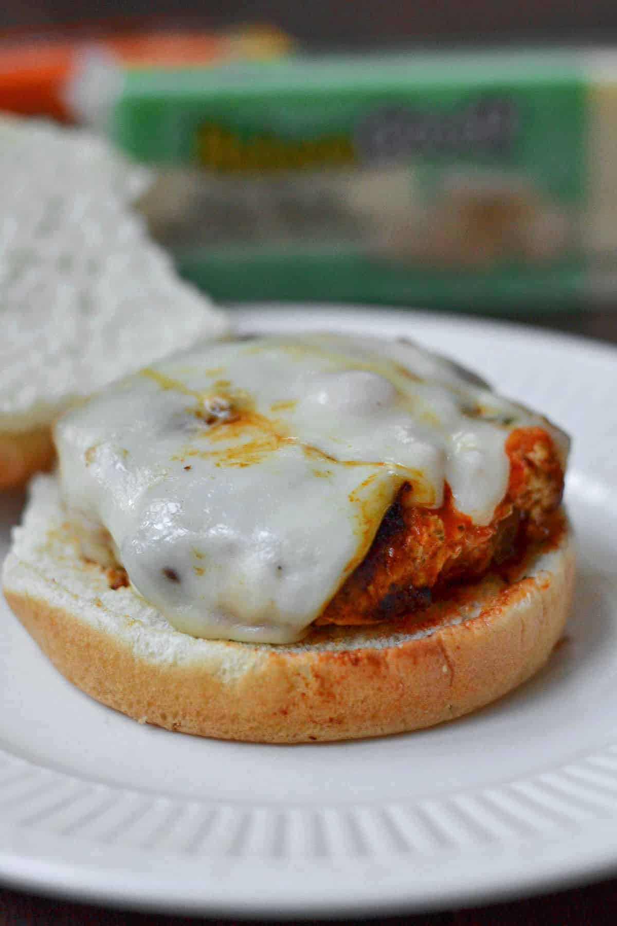
[[[413,616],[433,598],[448,597],[452,586],[475,582],[488,570],[505,582],[516,581],[535,545],[561,536],[563,471],[542,428],[513,431],[505,450],[508,489],[489,524],[478,526],[459,511],[447,482],[438,508],[414,506],[413,487],[403,486],[363,562],[315,623]]]

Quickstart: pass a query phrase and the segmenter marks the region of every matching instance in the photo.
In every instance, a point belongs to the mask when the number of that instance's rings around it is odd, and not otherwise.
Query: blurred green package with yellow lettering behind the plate
[[[218,299],[569,307],[611,290],[617,56],[290,56],[133,69],[111,131]]]

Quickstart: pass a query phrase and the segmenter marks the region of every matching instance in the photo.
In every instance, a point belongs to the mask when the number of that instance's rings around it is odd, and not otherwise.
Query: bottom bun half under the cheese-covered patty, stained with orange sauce
[[[6,600],[69,681],[141,722],[221,739],[302,743],[412,731],[520,685],[560,639],[574,579],[569,529],[422,623],[314,629],[300,644],[197,640],[84,562],[56,480],[38,476],[6,558]]]

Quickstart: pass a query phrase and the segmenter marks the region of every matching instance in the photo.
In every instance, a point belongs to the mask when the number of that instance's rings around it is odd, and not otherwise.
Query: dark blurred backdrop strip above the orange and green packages
[[[321,0],[314,4],[285,0],[227,0],[199,3],[178,0],[5,0],[0,23],[5,27],[56,25],[100,21],[108,17],[164,19],[176,24],[192,22],[217,29],[258,17],[276,23],[298,38],[327,44],[368,44],[376,40],[400,42],[432,37],[464,38],[477,42],[487,36],[580,39],[582,31],[606,41],[606,30],[617,27],[617,8],[611,0],[518,0],[496,4],[488,0],[458,3],[404,4],[397,0]]]

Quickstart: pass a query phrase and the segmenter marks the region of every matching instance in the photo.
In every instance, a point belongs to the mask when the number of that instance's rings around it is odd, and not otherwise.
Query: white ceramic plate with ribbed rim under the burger
[[[449,907],[617,870],[617,351],[402,311],[253,307],[239,320],[417,338],[570,431],[580,574],[568,638],[532,682],[450,725],[247,745],[96,704],[4,606],[0,877],[102,903],[272,917]],[[6,544],[19,500],[3,504]]]

